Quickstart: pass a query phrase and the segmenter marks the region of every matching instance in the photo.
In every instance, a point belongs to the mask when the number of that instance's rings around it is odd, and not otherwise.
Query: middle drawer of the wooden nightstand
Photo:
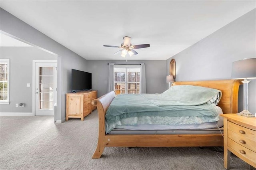
[[[244,135],[237,134],[228,129],[228,138],[234,140],[236,143],[256,152],[256,142],[250,138],[246,138]]]

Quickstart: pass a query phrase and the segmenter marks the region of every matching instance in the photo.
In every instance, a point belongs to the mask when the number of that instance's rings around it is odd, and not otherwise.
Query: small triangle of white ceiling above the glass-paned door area
[[[0,47],[31,47],[31,45],[0,33]]]

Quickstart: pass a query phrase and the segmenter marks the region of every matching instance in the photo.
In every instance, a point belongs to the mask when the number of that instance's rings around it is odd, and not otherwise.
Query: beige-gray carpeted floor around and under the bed
[[[225,169],[221,147],[107,147],[100,159],[92,159],[97,140],[97,110],[84,121],[61,124],[53,123],[53,117],[0,117],[0,169]],[[233,154],[231,158],[230,169],[248,168]]]

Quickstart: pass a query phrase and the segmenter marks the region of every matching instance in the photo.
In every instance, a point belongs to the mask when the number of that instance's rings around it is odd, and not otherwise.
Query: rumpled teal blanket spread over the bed
[[[207,122],[218,121],[218,111],[215,106],[220,98],[219,90],[192,85],[172,86],[162,94],[117,95],[105,115],[106,133],[116,125],[120,125],[122,119],[131,117],[186,117],[189,115],[204,117]],[[194,123],[196,122],[192,121],[189,124]],[[177,122],[160,119],[154,124],[177,125]],[[126,123],[126,125],[133,125],[133,123]]]

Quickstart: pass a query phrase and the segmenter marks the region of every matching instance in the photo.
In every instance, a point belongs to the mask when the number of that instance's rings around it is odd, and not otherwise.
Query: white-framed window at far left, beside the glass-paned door
[[[0,59],[0,104],[9,104],[10,59]]]

